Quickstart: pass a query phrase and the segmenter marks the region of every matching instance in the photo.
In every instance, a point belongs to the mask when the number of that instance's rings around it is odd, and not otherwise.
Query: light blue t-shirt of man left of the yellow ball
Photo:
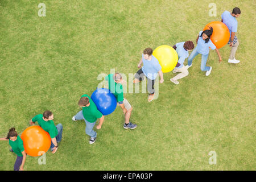
[[[158,59],[156,59],[155,56],[152,55],[151,60],[146,60],[144,59],[144,56],[142,54],[142,61],[142,71],[144,75],[147,78],[150,78],[150,80],[155,80],[156,76],[158,76],[158,72],[162,69]]]

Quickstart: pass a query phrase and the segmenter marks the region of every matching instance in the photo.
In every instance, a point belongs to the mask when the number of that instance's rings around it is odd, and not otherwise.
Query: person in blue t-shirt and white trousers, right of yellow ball
[[[180,78],[184,78],[185,76],[188,76],[188,69],[185,68],[183,65],[185,59],[188,57],[188,51],[191,51],[194,48],[194,44],[192,41],[187,41],[187,42],[180,42],[176,43],[175,46],[173,47],[177,55],[179,57],[179,60],[177,61],[176,67],[174,68],[174,73],[179,73],[175,77],[171,78],[170,81],[174,82],[174,84],[179,84]]]

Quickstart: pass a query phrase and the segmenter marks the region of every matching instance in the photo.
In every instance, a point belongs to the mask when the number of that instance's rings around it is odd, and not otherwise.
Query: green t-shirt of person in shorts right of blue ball
[[[113,79],[113,74],[109,74],[105,77],[105,80],[109,82],[109,90],[114,94],[115,98],[117,98],[117,102],[123,101],[123,86],[122,84],[118,84]]]

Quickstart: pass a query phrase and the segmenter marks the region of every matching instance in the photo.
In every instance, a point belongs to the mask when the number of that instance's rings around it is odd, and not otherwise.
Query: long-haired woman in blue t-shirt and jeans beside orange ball
[[[204,30],[200,31],[199,35],[197,36],[196,43],[197,46],[196,48],[192,51],[191,55],[188,57],[188,65],[186,66],[187,68],[192,66],[192,61],[193,59],[200,53],[202,55],[202,60],[201,60],[201,71],[206,71],[205,75],[209,76],[210,72],[212,71],[212,67],[207,67],[207,59],[208,55],[210,52],[210,49],[215,49],[218,55],[218,61],[221,62],[221,55],[216,46],[212,43],[210,40],[210,36],[212,35],[213,28],[209,27],[210,30]]]

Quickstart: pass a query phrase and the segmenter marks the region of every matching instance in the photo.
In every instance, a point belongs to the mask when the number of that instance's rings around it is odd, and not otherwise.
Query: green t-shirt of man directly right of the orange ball
[[[52,120],[44,121],[43,114],[38,114],[32,118],[32,122],[38,122],[38,125],[42,127],[44,131],[47,131],[51,138],[55,138],[58,135],[58,130]]]

